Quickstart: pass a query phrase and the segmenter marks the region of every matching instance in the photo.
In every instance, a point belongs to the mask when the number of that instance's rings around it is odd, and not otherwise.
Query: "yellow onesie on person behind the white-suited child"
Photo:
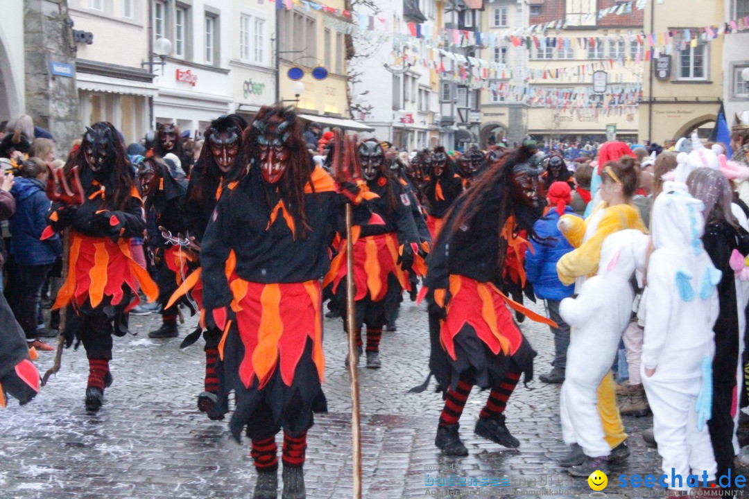
[[[596,221],[597,225],[594,227],[592,224]],[[562,215],[560,225],[565,238],[576,248],[557,263],[560,281],[567,285],[574,283],[576,278],[589,277],[598,272],[601,245],[610,234],[625,229],[647,233],[640,212],[631,204],[607,206],[606,203],[601,203],[585,220],[573,215]],[[624,432],[619,409],[616,408],[616,391],[610,371],[598,385],[597,394],[598,415],[601,417],[606,441],[613,449],[625,441],[627,434]]]

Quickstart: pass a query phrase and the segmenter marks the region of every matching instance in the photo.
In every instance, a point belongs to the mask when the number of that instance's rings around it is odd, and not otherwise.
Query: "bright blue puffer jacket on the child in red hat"
[[[566,214],[578,216],[569,206],[565,207]],[[531,239],[535,253],[527,251],[525,254],[526,278],[533,283],[536,296],[545,300],[561,300],[574,293],[574,284],[565,286],[557,275],[557,262],[574,249],[557,229],[559,219],[559,213],[552,208],[533,224],[536,236],[541,240]],[[544,241],[542,238],[550,239]]]

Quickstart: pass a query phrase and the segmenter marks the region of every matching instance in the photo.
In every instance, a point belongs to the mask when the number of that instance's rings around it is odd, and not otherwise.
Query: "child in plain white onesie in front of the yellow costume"
[[[560,397],[562,438],[571,453],[584,454],[583,464],[570,468],[574,476],[588,470],[588,474],[608,471],[611,447],[596,408],[596,390],[611,369],[629,323],[634,301],[629,280],[635,269],[644,267],[648,241],[649,236],[636,229],[607,236],[598,275],[585,281],[577,299],[563,299],[560,304],[562,319],[572,326]]]

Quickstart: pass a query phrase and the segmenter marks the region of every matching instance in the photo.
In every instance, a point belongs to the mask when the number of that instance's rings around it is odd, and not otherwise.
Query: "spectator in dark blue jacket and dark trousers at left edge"
[[[16,200],[16,212],[10,217],[10,253],[15,264],[13,313],[26,334],[30,346],[49,352],[52,346],[38,338],[37,316],[42,285],[52,264],[61,254],[58,236],[45,241],[40,237],[46,227],[51,203],[44,191],[47,168],[40,159],[28,159],[21,166],[21,177],[10,194]]]

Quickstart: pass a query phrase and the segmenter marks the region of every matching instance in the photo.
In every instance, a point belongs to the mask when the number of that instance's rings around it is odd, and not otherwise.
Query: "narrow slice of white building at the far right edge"
[[[725,19],[749,16],[749,0],[726,0]],[[727,34],[723,45],[723,102],[728,126],[734,114],[749,109],[749,81],[742,72],[749,68],[749,31]]]

